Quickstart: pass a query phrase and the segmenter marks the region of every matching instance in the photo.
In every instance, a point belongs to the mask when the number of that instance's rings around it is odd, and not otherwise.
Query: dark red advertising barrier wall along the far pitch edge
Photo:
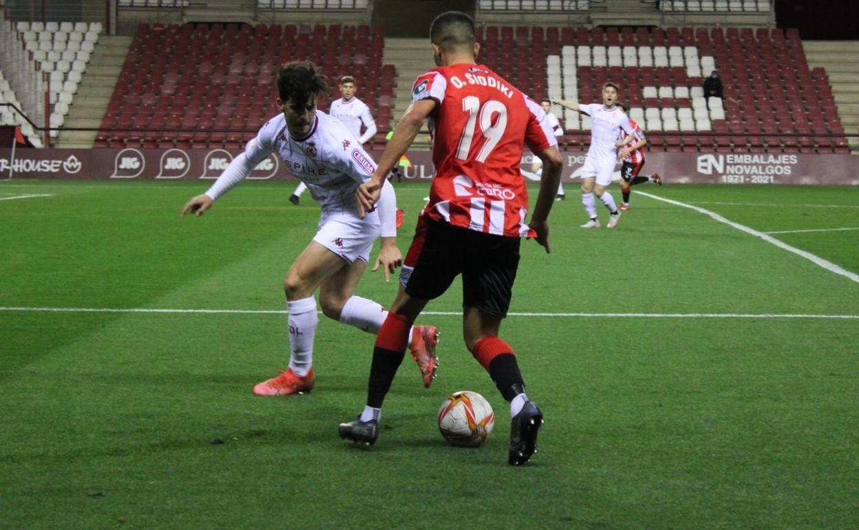
[[[19,179],[216,179],[237,155],[224,149],[0,149],[0,178]],[[378,160],[381,152],[371,153]],[[428,181],[433,176],[427,151],[408,153],[413,168],[406,180]],[[533,155],[522,159],[522,173],[531,173]],[[584,152],[564,152],[564,181],[577,180]],[[648,155],[643,174],[659,172],[668,183],[701,184],[852,184],[859,171],[850,162],[855,155],[663,153]],[[615,173],[617,179],[620,167]],[[289,180],[283,161],[271,155],[253,171],[253,180]]]

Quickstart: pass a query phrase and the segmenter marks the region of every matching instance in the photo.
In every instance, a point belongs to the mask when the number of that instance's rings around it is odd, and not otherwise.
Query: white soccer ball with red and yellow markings
[[[454,392],[438,409],[438,428],[451,445],[476,448],[485,442],[494,424],[492,406],[476,392]]]

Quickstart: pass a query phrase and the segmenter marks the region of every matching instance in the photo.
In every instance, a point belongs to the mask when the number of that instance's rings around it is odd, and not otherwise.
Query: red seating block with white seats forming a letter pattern
[[[667,151],[849,152],[825,71],[809,69],[795,30],[721,27],[487,26],[484,63],[535,98],[598,101],[621,85],[631,115]],[[534,69],[533,58],[546,58]],[[704,100],[719,70],[724,101]],[[589,120],[566,111],[566,139],[587,145]]]

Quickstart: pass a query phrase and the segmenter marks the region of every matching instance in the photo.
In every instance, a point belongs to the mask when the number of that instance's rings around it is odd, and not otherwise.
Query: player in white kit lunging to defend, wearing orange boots
[[[253,387],[253,393],[265,396],[309,392],[314,387],[313,345],[319,321],[316,289],[323,314],[375,334],[387,311],[354,295],[374,241],[381,235],[373,271],[383,267],[385,281],[402,262],[394,228],[393,186],[385,186],[375,211],[359,215],[356,189],[369,180],[376,165],[342,123],[316,110],[325,77],[313,63],[288,63],[277,76],[277,89],[277,107],[282,113],[262,126],[245,152],[230,162],[207,192],[191,198],[182,209],[183,216],[188,212],[202,215],[271,153],[277,153],[289,171],[307,184],[322,207],[318,232],[289,267],[283,283],[289,313],[289,369]],[[435,327],[414,326],[411,330],[411,354],[425,387],[436,371],[436,340]]]

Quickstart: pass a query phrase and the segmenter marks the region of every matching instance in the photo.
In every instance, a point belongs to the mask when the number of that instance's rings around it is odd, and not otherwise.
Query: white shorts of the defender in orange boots
[[[356,259],[369,263],[370,250],[379,235],[379,215],[375,211],[371,211],[363,219],[341,214],[329,216],[323,212],[314,241],[350,264]]]

